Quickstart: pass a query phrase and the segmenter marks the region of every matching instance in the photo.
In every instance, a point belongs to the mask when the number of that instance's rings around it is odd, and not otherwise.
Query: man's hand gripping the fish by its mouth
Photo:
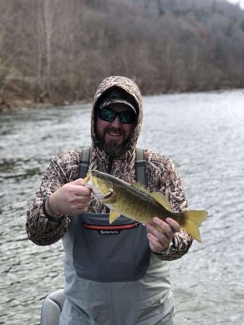
[[[80,178],[74,182],[63,185],[60,189],[50,195],[49,205],[51,209],[60,216],[77,216],[84,212],[91,201],[91,189],[81,186],[83,180]],[[45,202],[47,213],[52,217],[53,213]]]

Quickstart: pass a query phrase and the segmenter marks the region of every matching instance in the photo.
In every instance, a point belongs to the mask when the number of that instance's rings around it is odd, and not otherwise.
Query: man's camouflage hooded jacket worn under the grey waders
[[[96,104],[110,87],[118,86],[132,95],[137,103],[137,121],[128,140],[123,157],[109,159],[101,149],[95,133]],[[135,147],[142,126],[142,96],[136,83],[125,77],[109,77],[100,84],[93,103],[91,112],[91,153],[89,169],[98,169],[108,172],[127,183],[136,180],[135,175]],[[67,231],[69,226],[68,216],[61,220],[48,219],[42,209],[43,201],[57,191],[65,183],[73,182],[78,177],[78,163],[82,149],[76,149],[54,158],[46,169],[41,187],[36,194],[32,206],[27,212],[26,233],[31,241],[38,245],[49,245],[57,242]],[[187,208],[187,199],[182,182],[174,164],[162,154],[145,150],[146,176],[148,187],[151,191],[162,192],[171,204],[174,211],[184,211]],[[105,206],[97,200],[91,200],[87,212],[105,213]],[[173,246],[168,254],[158,255],[163,260],[176,260],[183,256],[191,246],[192,238],[183,229],[177,233],[173,240]]]

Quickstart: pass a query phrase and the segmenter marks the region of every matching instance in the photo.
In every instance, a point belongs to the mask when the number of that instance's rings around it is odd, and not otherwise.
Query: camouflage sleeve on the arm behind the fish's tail
[[[168,199],[173,211],[187,211],[187,197],[183,184],[179,178],[175,165],[168,159],[166,162],[166,178],[162,177],[161,189]],[[165,172],[165,171],[164,171]],[[156,254],[164,261],[174,261],[186,254],[192,244],[192,237],[183,229],[175,234],[172,239],[173,245],[167,254]]]

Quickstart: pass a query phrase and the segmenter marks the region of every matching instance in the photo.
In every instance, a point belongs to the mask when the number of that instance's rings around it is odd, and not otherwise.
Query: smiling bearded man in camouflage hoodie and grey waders
[[[142,97],[135,82],[102,81],[91,114],[89,169],[133,183],[141,125]],[[60,324],[174,324],[169,261],[183,256],[192,238],[174,220],[157,216],[154,222],[163,232],[123,216],[113,223],[117,232],[108,230],[108,211],[78,178],[81,155],[77,149],[53,159],[27,213],[26,231],[34,243],[63,241],[66,300]],[[151,150],[145,150],[145,161],[149,189],[162,192],[174,211],[188,210],[173,163]]]

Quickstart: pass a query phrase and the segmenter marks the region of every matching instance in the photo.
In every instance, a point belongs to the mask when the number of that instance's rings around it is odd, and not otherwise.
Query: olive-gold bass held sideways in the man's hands
[[[165,221],[169,217],[201,242],[199,226],[208,214],[205,210],[173,212],[163,193],[151,192],[139,182],[129,184],[98,170],[88,170],[82,185],[92,189],[95,198],[110,209],[110,224],[123,215],[143,225],[151,223],[163,232],[153,218]]]

